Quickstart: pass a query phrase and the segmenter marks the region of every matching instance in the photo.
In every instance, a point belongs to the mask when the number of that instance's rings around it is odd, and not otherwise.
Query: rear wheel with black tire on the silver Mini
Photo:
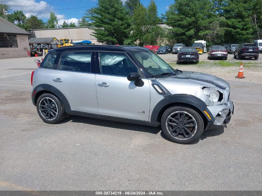
[[[48,124],[56,124],[66,117],[63,103],[53,94],[40,95],[36,102],[36,108],[40,118]]]

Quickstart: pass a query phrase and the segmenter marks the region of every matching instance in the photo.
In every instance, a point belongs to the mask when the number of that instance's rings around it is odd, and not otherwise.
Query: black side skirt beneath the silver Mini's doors
[[[112,121],[123,122],[123,123],[142,124],[142,125],[148,125],[152,127],[158,127],[160,125],[159,122],[153,123],[153,122],[144,121],[144,120],[133,120],[133,119],[127,119],[127,118],[114,117],[114,116],[91,114],[91,113],[81,112],[81,111],[66,110],[65,112],[68,115],[85,116],[89,118],[112,120]]]

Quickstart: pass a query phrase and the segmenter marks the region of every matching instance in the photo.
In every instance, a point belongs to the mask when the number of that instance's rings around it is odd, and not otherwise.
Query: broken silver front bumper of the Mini
[[[207,108],[215,118],[213,125],[225,126],[234,114],[235,105],[234,102],[229,99],[227,104],[208,106]]]

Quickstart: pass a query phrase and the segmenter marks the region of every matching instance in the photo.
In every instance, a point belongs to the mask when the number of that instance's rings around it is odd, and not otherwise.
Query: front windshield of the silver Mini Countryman
[[[156,77],[169,77],[175,75],[176,70],[162,60],[158,55],[151,51],[144,52],[130,52],[133,58],[140,62],[140,64],[148,71],[152,77],[158,74],[170,73],[169,75],[162,75]]]

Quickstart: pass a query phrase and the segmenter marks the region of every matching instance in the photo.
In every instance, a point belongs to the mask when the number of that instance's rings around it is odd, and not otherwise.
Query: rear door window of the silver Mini
[[[90,73],[91,55],[87,51],[65,52],[60,59],[60,70]]]

